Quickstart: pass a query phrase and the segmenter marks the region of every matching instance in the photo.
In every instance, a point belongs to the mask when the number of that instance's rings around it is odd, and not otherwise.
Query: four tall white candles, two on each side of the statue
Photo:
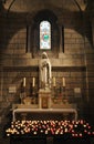
[[[25,88],[27,79],[23,78],[23,86]],[[35,78],[32,78],[32,86],[35,86]],[[56,79],[53,78],[53,86],[56,86]],[[65,86],[65,78],[62,78],[62,86]]]

